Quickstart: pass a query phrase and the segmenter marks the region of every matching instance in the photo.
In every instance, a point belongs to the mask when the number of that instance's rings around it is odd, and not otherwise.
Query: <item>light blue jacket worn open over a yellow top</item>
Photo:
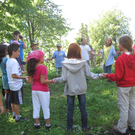
[[[104,59],[104,47],[103,50],[100,50],[100,52],[102,53],[102,58]],[[118,56],[118,54],[116,54],[115,48],[113,45],[111,45],[111,49],[108,55],[108,58],[106,60],[105,66],[110,66],[114,63],[114,57]]]

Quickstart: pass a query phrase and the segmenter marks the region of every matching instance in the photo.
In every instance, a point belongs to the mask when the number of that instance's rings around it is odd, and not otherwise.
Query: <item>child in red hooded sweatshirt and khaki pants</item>
[[[115,135],[129,135],[126,131],[128,127],[135,135],[135,55],[132,44],[129,36],[119,38],[119,50],[123,51],[123,54],[116,60],[115,73],[103,75],[103,78],[109,78],[117,84],[120,119],[117,126],[113,127]]]

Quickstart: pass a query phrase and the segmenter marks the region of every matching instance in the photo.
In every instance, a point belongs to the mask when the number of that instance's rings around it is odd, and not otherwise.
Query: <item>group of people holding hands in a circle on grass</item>
[[[81,42],[82,45],[80,46],[77,43],[71,43],[68,48],[67,56],[64,51],[61,50],[61,44],[57,44],[57,51],[55,51],[52,58],[46,59],[46,61],[53,58],[56,60],[57,76],[59,77],[52,80],[48,80],[47,68],[43,65],[45,54],[42,51],[35,50],[28,55],[26,68],[28,77],[22,77],[19,64],[16,61],[16,58],[19,56],[20,48],[18,42],[13,42],[8,47],[6,46],[10,58],[6,62],[5,71],[7,72],[7,83],[9,84],[9,91],[11,94],[13,118],[15,118],[16,122],[19,122],[21,119],[19,105],[22,104],[22,98],[20,100],[21,95],[17,93],[21,93],[22,79],[25,79],[28,83],[32,84],[33,118],[35,119],[34,127],[39,129],[41,126],[39,112],[40,106],[42,106],[46,122],[45,127],[47,129],[50,128],[50,92],[48,84],[64,82],[64,95],[67,96],[68,104],[66,131],[72,131],[73,129],[74,101],[76,95],[79,100],[79,108],[81,111],[82,130],[87,131],[89,130],[89,126],[87,123],[88,117],[86,111],[86,80],[88,80],[88,78],[108,78],[110,79],[109,81],[116,81],[117,102],[120,110],[120,119],[117,126],[113,127],[113,133],[114,135],[129,135],[129,128],[130,131],[135,133],[135,55],[132,49],[133,40],[129,36],[120,37],[119,51],[116,52],[112,45],[112,39],[108,38],[103,46],[103,50],[100,50],[98,53],[94,53],[90,50],[84,38],[81,39]],[[0,50],[1,46],[4,46],[4,44],[0,45]],[[0,56],[0,64],[6,57],[7,50],[5,49],[5,54]],[[104,73],[94,74],[90,72],[89,52],[98,56],[102,53],[104,59]],[[116,60],[115,73],[111,74],[114,57],[118,56],[120,52],[122,52],[122,54]],[[58,59],[58,57],[60,57],[60,59]],[[65,57],[67,58],[66,60],[64,60]],[[60,65],[58,63],[60,63]],[[62,75],[60,77],[61,71]],[[16,89],[14,86],[17,81],[20,82],[18,83],[20,84],[18,87],[19,89]]]

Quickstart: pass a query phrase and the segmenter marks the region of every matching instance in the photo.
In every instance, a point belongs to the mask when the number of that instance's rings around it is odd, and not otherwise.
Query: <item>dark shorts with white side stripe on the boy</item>
[[[20,90],[12,91],[10,90],[11,103],[13,104],[23,104],[23,87]]]

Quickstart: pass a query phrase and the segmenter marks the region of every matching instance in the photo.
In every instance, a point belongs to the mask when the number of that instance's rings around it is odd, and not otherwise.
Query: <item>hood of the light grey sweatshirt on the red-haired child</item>
[[[70,72],[76,73],[78,72],[86,63],[86,60],[78,60],[78,59],[67,59],[62,62],[63,66],[65,66]]]

